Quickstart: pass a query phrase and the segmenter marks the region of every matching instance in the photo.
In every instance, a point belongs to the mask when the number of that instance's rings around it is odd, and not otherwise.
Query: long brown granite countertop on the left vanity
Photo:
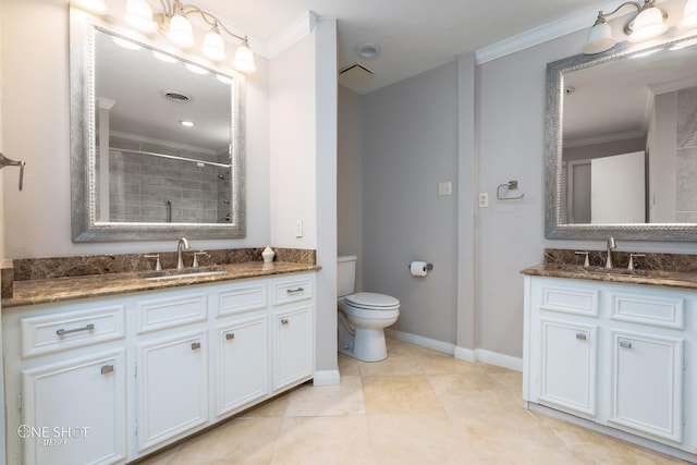
[[[174,270],[135,271],[122,273],[87,274],[80,277],[33,279],[14,281],[13,296],[2,299],[2,308],[25,305],[46,304],[77,298],[100,297],[107,295],[125,294],[130,292],[151,291],[159,289],[183,287],[195,284],[210,284],[246,278],[261,278],[274,274],[285,274],[303,271],[317,271],[321,267],[313,264],[288,261],[246,261],[212,267],[201,267],[197,271],[220,271],[217,274],[189,276],[175,279],[148,280],[146,278],[164,273],[175,273]],[[180,273],[193,272],[187,268]]]

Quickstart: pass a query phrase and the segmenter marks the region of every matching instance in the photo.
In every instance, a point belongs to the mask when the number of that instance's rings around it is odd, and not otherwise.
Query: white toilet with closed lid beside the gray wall
[[[339,352],[364,362],[388,356],[383,329],[400,316],[400,301],[372,292],[353,293],[356,257],[340,256],[337,266],[339,293]]]

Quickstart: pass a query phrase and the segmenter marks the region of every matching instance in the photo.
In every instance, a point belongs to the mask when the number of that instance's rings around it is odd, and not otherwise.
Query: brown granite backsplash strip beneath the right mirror
[[[585,254],[576,255],[576,252],[586,252],[586,249],[546,248],[545,264],[583,266],[586,256]],[[645,257],[634,257],[634,267],[639,270],[697,271],[697,255],[651,254],[641,250],[612,250],[612,264],[614,268],[626,268],[629,264],[629,254],[646,254]],[[591,267],[603,267],[606,265],[606,250],[588,250],[588,260]]]

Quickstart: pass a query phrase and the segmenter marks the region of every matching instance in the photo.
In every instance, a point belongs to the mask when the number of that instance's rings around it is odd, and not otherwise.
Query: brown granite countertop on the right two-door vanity
[[[536,277],[697,290],[697,272],[695,271],[627,270],[625,268],[607,269],[602,267],[583,267],[580,265],[542,264],[526,268],[521,273]]]

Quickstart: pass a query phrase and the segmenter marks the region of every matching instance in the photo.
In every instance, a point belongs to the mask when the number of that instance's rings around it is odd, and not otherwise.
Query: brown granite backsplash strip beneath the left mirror
[[[242,264],[262,261],[261,250],[255,248],[229,248],[206,250],[208,256],[199,256],[201,267],[209,265]],[[274,261],[295,264],[316,264],[316,252],[299,248],[273,248]],[[194,248],[184,250],[184,265],[191,266]],[[21,258],[14,259],[14,280],[28,281],[64,277],[82,277],[87,274],[122,273],[132,271],[155,270],[155,259],[144,255],[159,254],[163,269],[176,268],[176,252],[159,252],[154,254],[91,255],[77,257]],[[3,283],[4,283],[3,274]]]

